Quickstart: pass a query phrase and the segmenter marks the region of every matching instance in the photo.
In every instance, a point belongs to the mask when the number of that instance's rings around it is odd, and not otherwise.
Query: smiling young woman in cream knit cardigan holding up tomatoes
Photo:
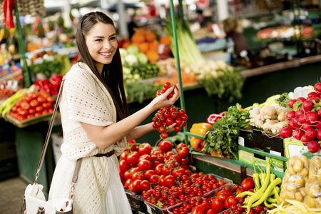
[[[116,156],[124,151],[127,141],[153,131],[152,123],[138,125],[158,108],[173,105],[180,88],[176,85],[128,116],[113,21],[102,12],[86,14],[78,23],[76,45],[79,59],[66,73],[59,103],[62,156],[49,199],[68,197],[76,160],[82,158],[73,195],[74,213],[132,213]],[[171,91],[175,94],[168,99]]]

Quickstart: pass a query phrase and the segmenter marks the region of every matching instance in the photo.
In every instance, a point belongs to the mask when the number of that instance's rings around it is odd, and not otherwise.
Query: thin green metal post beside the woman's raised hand
[[[184,101],[184,93],[183,93],[183,84],[182,84],[182,76],[180,73],[180,55],[178,53],[178,42],[177,42],[177,34],[176,34],[176,22],[175,22],[175,11],[173,0],[170,0],[170,17],[172,19],[172,27],[173,27],[173,39],[175,46],[175,58],[177,63],[177,72],[178,72],[178,84],[180,86],[180,108],[185,110],[185,101]],[[187,125],[183,127],[184,133],[187,131]],[[188,137],[185,136],[185,144],[188,145]]]

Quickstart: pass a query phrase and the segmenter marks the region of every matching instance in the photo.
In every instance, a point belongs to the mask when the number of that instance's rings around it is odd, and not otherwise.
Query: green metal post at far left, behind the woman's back
[[[24,45],[24,38],[22,37],[22,29],[19,19],[19,11],[18,11],[18,4],[16,0],[16,7],[14,8],[14,15],[16,16],[16,29],[18,30],[18,37],[19,37],[19,52],[23,62],[24,68],[22,69],[22,73],[24,75],[24,87],[29,88],[31,86],[30,76],[29,76],[29,68],[26,63],[26,50]]]

